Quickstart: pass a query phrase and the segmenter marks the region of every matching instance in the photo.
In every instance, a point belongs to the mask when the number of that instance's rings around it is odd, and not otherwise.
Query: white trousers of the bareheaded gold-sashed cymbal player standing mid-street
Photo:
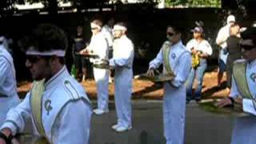
[[[163,123],[166,144],[184,144],[186,88],[164,83]]]

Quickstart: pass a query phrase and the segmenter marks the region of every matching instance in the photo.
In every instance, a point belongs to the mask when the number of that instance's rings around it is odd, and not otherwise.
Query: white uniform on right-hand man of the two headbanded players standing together
[[[118,126],[131,128],[131,95],[133,84],[134,45],[123,35],[114,40],[113,58],[110,66],[114,67],[114,97],[118,116]]]

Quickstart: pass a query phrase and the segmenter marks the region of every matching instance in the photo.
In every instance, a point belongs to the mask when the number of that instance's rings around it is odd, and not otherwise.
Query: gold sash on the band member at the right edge
[[[246,62],[235,62],[233,67],[234,81],[237,84],[239,92],[243,98],[254,99],[250,94],[246,80]]]

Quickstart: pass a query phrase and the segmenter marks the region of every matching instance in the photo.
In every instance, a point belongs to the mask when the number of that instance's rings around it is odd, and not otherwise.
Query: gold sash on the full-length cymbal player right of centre
[[[174,75],[173,70],[171,70],[171,68],[170,68],[169,54],[170,54],[170,43],[165,42],[162,46],[162,57],[163,57],[163,62],[164,62],[163,66],[165,66],[166,72],[168,74]]]

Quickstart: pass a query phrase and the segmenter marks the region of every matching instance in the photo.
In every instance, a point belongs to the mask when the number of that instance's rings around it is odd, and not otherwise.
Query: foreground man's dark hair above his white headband
[[[34,50],[41,52],[48,50],[66,50],[68,41],[65,32],[58,26],[41,24],[23,41],[23,47],[25,49],[30,46],[34,46]]]

